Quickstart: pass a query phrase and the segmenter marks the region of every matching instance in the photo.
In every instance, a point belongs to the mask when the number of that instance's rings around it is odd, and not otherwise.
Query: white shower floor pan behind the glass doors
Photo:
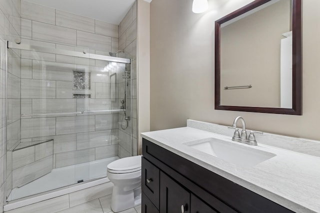
[[[91,180],[106,177],[106,166],[119,159],[111,157],[90,163],[82,163],[67,167],[53,169],[49,174],[42,176],[22,187],[14,188],[7,201],[24,198],[31,195],[51,191],[61,187],[76,184],[77,181]]]

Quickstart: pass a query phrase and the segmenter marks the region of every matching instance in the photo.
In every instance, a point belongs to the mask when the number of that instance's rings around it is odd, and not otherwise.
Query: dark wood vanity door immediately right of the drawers
[[[161,171],[160,213],[190,213],[190,193]]]

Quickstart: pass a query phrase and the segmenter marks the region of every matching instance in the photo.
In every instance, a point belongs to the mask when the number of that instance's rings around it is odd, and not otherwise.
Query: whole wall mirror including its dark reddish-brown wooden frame
[[[215,21],[215,109],[301,115],[301,0],[255,0]]]

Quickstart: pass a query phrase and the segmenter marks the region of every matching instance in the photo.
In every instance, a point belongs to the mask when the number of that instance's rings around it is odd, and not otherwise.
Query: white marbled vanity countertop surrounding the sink
[[[250,146],[275,154],[243,168],[182,143],[204,138],[231,141],[190,127],[141,133],[142,137],[296,213],[320,213],[320,158],[263,144]],[[232,142],[237,143],[237,142]],[[239,143],[238,143],[239,144]],[[249,146],[243,144],[243,146]]]

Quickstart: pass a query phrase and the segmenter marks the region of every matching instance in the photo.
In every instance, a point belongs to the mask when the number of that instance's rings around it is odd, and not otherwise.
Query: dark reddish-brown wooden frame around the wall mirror
[[[302,115],[301,0],[292,0],[292,109],[220,105],[220,25],[270,0],[255,0],[215,21],[214,109]]]

